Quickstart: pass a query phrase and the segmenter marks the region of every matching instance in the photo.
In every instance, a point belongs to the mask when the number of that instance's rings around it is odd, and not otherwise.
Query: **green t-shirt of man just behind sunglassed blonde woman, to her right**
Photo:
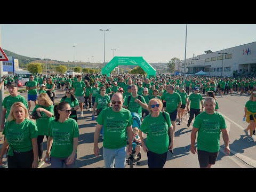
[[[172,113],[177,109],[179,103],[181,102],[181,97],[179,93],[173,92],[173,94],[165,93],[162,96],[162,100],[166,101],[166,109],[165,111],[168,113]]]

